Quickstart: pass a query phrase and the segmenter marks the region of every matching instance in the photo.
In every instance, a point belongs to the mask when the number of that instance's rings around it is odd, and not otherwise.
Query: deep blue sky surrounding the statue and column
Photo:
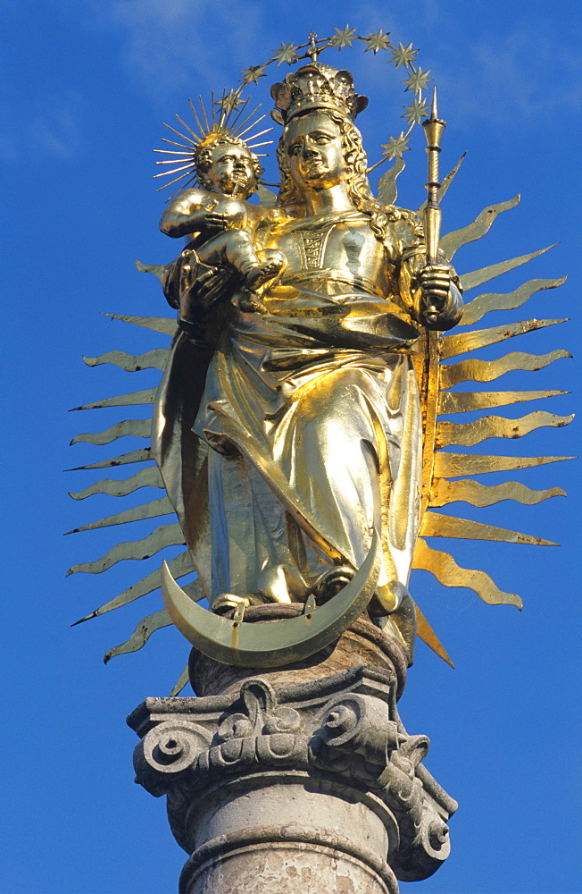
[[[443,167],[468,153],[443,204],[445,230],[470,223],[486,205],[522,195],[485,239],[459,251],[459,271],[559,242],[494,288],[511,291],[526,278],[569,274],[560,290],[541,291],[523,311],[492,315],[483,325],[572,316],[573,323],[531,333],[507,350],[568,348],[579,358],[579,20],[578,4],[566,0],[324,0],[317,9],[304,0],[0,3],[7,818],[0,894],[158,894],[175,890],[186,859],[171,838],[162,800],[133,784],[134,734],[125,726],[126,714],[145,696],[169,692],[187,660],[186,641],[166,628],[143,651],[104,667],[105,650],[160,607],[159,594],[70,628],[153,570],[159,557],[143,569],[125,561],[103,575],[64,578],[73,563],[96,559],[152,526],[62,536],[124,508],[99,495],[72,502],[67,491],[95,478],[61,471],[106,453],[85,444],[69,448],[73,435],[123,416],[67,409],[156,381],[154,371],[88,368],[81,355],[139,353],[163,344],[159,335],[100,316],[167,312],[154,277],[134,268],[136,257],[165,263],[176,253],[158,231],[163,194],[151,179],[162,121],[186,114],[189,96],[235,85],[240,69],[263,62],[281,41],[300,42],[311,29],[323,36],[347,22],[364,35],[382,27],[396,41],[412,41],[448,122]],[[361,120],[375,161],[379,144],[402,128],[399,79],[386,60],[360,48],[328,55],[330,63],[336,60],[370,96]],[[268,102],[270,81],[254,90],[257,102]],[[399,202],[414,208],[426,179],[421,134],[412,145]],[[274,177],[272,162],[269,170]],[[489,356],[506,352],[497,346]],[[580,402],[578,362],[511,374],[499,387],[578,391],[543,407],[567,414]],[[510,408],[507,415],[532,409],[540,407]],[[578,432],[575,420],[509,446],[495,441],[491,449],[573,455]],[[121,450],[134,446],[140,445],[128,441]],[[464,567],[491,572],[504,590],[523,597],[524,611],[484,605],[472,591],[445,589],[424,573],[412,582],[456,670],[420,645],[401,713],[409,731],[431,738],[428,768],[461,807],[451,822],[449,862],[428,881],[403,884],[403,891],[582,890],[576,865],[578,466],[553,464],[514,477],[534,488],[565,486],[569,499],[453,510],[544,536],[561,548],[436,545],[450,548]],[[159,495],[151,488],[143,493]]]

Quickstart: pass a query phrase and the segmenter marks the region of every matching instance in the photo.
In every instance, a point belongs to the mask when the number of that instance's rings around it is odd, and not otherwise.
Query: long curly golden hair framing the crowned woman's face
[[[366,176],[368,159],[362,146],[362,134],[349,118],[331,109],[319,109],[321,114],[328,116],[330,121],[339,128],[342,148],[344,149],[347,173],[345,183],[348,195],[353,202],[353,207],[370,217],[370,228],[378,240],[384,240],[388,216],[370,190],[370,183]],[[277,147],[277,160],[281,173],[281,187],[279,190],[279,204],[296,206],[303,204],[303,196],[299,187],[291,177],[289,158],[287,156],[286,138],[289,125],[285,127],[279,146]]]

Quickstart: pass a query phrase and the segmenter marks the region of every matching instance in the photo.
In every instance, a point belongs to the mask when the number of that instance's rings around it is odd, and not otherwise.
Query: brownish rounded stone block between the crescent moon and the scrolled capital
[[[303,605],[297,603],[251,605],[245,610],[245,622],[262,623],[292,618],[302,611]],[[402,695],[406,683],[407,665],[403,647],[394,637],[387,637],[380,628],[363,616],[335,643],[321,649],[303,662],[286,664],[282,668],[268,670],[237,668],[214,662],[196,649],[192,649],[190,680],[196,695],[217,696],[220,693],[237,692],[244,680],[249,677],[261,677],[268,680],[271,686],[279,688],[328,677],[339,671],[347,671],[358,664],[370,664],[372,667],[394,671],[397,696]]]

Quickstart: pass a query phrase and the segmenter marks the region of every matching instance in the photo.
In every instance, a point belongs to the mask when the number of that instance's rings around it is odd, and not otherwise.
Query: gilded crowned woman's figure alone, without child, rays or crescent
[[[240,309],[236,280],[222,291],[224,330],[191,448],[204,454],[202,481],[176,455],[184,436],[173,427],[183,425],[181,404],[191,398],[191,377],[173,375],[187,362],[181,357],[162,384],[154,454],[168,493],[179,494],[175,508],[213,607],[233,596],[296,602],[313,593],[327,602],[362,566],[377,531],[370,611],[382,623],[402,612],[412,652],[407,585],[420,516],[421,420],[411,351],[420,326],[443,331],[460,319],[458,280],[446,263],[427,265],[419,217],[373,198],[353,123],[362,97],[348,73],[310,63],[272,93],[285,122],[282,212],[266,209],[253,240],[287,263],[275,282],[262,283],[264,309],[256,313]],[[199,214],[189,212],[187,192],[163,215],[162,231],[195,232]],[[214,239],[233,272],[239,232]],[[188,333],[192,308],[185,310],[183,302]],[[174,351],[195,353],[185,340]]]

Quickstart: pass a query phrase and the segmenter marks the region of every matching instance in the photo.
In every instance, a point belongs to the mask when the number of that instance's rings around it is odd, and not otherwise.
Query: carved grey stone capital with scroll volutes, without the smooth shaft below
[[[276,692],[248,679],[234,696],[148,698],[129,717],[143,738],[137,782],[168,796],[172,832],[191,853],[191,805],[229,780],[237,788],[262,774],[328,782],[333,794],[372,797],[389,826],[389,864],[406,881],[426,878],[449,854],[447,821],[456,802],[422,764],[426,736],[404,730],[395,675],[366,665]]]

